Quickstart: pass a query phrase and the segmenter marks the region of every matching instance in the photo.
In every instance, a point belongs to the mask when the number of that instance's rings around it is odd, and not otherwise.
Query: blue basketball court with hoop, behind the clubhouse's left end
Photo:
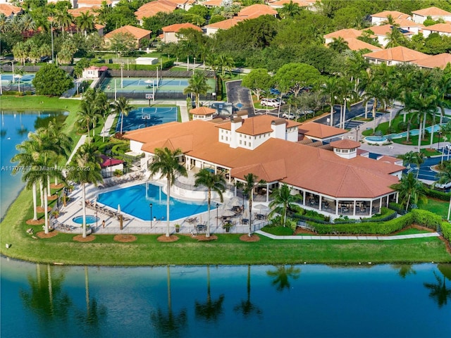
[[[177,120],[177,107],[145,107],[137,108],[124,116],[123,132],[161,125],[162,123],[175,122]],[[116,125],[116,132],[121,130],[121,117]]]

